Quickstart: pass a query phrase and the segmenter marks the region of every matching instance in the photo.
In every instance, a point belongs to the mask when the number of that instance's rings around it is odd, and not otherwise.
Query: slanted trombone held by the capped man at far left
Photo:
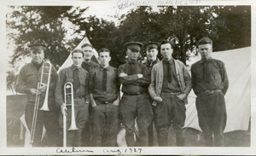
[[[49,95],[49,80],[50,80],[51,66],[52,65],[50,64],[49,61],[44,61],[43,66],[42,66],[41,78],[40,78],[40,83],[38,83],[34,113],[33,113],[33,118],[32,118],[32,129],[31,129],[31,138],[30,138],[31,144],[33,143],[34,136],[35,136],[35,130],[36,130],[36,124],[37,124],[37,118],[38,118],[38,107],[39,107],[39,101],[40,101],[40,93],[39,92],[42,87],[44,75],[48,75],[47,86],[46,86],[46,91],[45,91],[45,96],[44,96],[44,104],[43,104],[43,107],[40,108],[40,110],[49,111],[48,95]]]

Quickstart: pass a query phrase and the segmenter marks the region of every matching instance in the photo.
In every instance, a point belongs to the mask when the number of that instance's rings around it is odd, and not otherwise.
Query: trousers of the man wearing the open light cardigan
[[[184,146],[183,125],[186,119],[186,107],[184,102],[177,98],[177,95],[161,93],[163,99],[155,107],[155,126],[160,147],[168,146],[168,133],[172,125],[176,134],[176,144]]]

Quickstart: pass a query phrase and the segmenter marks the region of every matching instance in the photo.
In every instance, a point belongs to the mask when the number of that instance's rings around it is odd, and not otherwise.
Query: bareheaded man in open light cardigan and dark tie
[[[168,130],[173,125],[177,146],[184,146],[185,103],[192,88],[189,71],[172,58],[173,44],[160,43],[163,60],[153,66],[149,94],[156,102],[156,130],[159,146],[168,146]]]

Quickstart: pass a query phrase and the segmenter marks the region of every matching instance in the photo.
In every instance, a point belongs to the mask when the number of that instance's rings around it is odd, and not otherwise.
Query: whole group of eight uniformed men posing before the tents
[[[23,66],[16,83],[16,91],[27,95],[26,124],[30,129],[35,106],[35,95],[44,99],[47,85],[40,83],[44,63],[44,44],[31,46],[32,62]],[[142,49],[148,60],[138,62]],[[50,73],[49,112],[38,110],[33,146],[42,145],[43,125],[49,144],[59,146],[63,114],[67,116],[67,128],[71,126],[72,107],[64,103],[64,85],[73,84],[73,105],[76,126],[79,130],[67,130],[67,147],[114,147],[120,123],[125,126],[125,140],[129,147],[152,146],[154,127],[158,146],[168,146],[169,127],[172,124],[177,146],[185,146],[183,126],[186,118],[187,96],[193,88],[199,124],[206,146],[224,146],[226,108],[224,94],[228,78],[224,63],[212,59],[212,40],[201,38],[198,49],[201,61],[191,67],[191,75],[181,61],[172,58],[173,43],[149,42],[125,43],[128,61],[115,68],[109,66],[111,52],[100,49],[99,62],[90,61],[92,46],[85,43],[82,49],[72,52],[73,65],[57,74]],[[158,49],[163,59],[157,58]],[[121,87],[120,87],[121,86]],[[37,90],[38,88],[38,90]],[[120,95],[120,88],[123,95]],[[43,105],[39,101],[39,107]],[[138,135],[135,137],[137,122]]]

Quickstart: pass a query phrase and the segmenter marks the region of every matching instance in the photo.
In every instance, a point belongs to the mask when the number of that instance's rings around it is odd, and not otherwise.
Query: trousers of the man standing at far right
[[[224,146],[227,113],[223,92],[198,94],[195,101],[199,126],[207,147]]]

